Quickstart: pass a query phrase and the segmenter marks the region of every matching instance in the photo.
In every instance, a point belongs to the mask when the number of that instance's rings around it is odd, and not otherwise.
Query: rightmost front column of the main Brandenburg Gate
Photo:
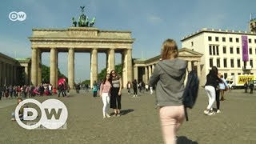
[[[127,82],[133,81],[133,62],[132,62],[132,54],[131,49],[126,50],[126,74],[127,74]]]

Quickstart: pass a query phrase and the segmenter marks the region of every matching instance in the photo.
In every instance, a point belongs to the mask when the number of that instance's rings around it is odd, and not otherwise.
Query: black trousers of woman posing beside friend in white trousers
[[[121,95],[118,95],[119,87],[112,87],[110,91],[110,108],[121,109]]]

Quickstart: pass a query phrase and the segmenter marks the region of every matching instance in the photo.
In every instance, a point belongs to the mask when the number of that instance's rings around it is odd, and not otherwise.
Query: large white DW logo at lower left
[[[37,105],[41,110],[41,118],[39,122],[35,123],[34,125],[26,125],[23,123],[18,115],[19,110],[24,106],[26,103],[33,103]],[[29,115],[32,114],[32,115]],[[57,99],[48,99],[42,103],[38,102],[34,99],[26,99],[18,104],[15,109],[15,119],[18,122],[19,126],[27,130],[33,130],[38,128],[39,126],[44,126],[46,129],[56,130],[63,125],[66,124],[66,119],[68,116],[68,112],[66,106],[63,102]],[[38,111],[34,108],[23,108],[23,119],[25,121],[33,121],[38,117]]]

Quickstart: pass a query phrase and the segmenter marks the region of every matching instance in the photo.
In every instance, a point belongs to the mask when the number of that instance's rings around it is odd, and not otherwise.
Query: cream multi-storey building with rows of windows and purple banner
[[[182,47],[203,54],[201,85],[212,66],[225,78],[231,75],[256,75],[256,34],[237,30],[203,28],[182,38]]]

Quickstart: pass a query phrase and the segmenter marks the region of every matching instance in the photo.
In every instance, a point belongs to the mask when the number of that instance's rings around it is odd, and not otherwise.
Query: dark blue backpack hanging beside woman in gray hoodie
[[[187,76],[186,87],[183,93],[183,105],[186,121],[189,120],[186,108],[192,109],[198,98],[199,79],[195,70],[191,70]]]

